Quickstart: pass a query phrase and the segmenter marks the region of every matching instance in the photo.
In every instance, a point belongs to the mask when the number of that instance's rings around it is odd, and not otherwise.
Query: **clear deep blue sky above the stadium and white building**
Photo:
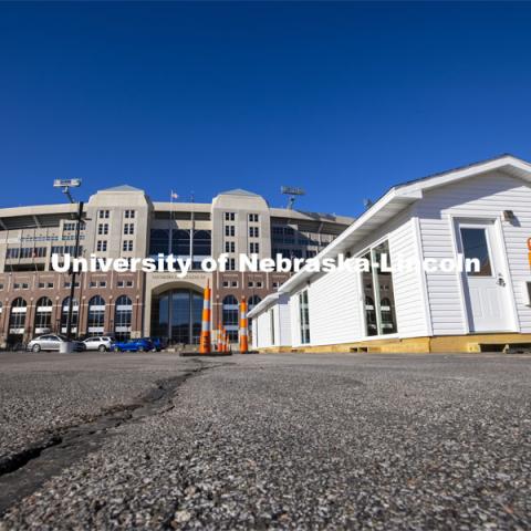
[[[0,206],[129,184],[355,215],[389,186],[531,159],[531,4],[0,3]]]

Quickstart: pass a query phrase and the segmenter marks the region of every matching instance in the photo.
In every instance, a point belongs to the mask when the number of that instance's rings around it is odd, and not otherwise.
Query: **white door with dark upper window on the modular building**
[[[503,332],[514,327],[510,290],[497,228],[491,221],[458,221],[459,251],[477,259],[479,271],[464,273],[470,332]]]

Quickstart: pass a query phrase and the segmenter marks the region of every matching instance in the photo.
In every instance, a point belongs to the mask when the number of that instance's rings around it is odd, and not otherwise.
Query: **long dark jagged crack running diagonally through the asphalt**
[[[52,434],[13,456],[0,458],[0,516],[19,500],[33,493],[46,480],[100,448],[111,437],[108,431],[124,424],[164,414],[174,408],[173,399],[180,385],[197,374],[225,364],[206,364],[156,382],[156,387],[133,404],[110,406],[87,423],[72,425]]]

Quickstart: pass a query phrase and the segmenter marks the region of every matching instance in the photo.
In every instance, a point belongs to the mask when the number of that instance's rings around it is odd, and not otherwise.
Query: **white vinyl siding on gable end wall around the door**
[[[501,171],[473,177],[427,191],[415,206],[425,258],[455,256],[452,217],[501,219],[512,210],[516,223],[501,221],[510,279],[521,332],[531,332],[531,308],[524,305],[522,283],[531,280],[527,239],[531,233],[531,188]],[[434,335],[466,333],[467,315],[458,273],[427,273],[428,302]]]

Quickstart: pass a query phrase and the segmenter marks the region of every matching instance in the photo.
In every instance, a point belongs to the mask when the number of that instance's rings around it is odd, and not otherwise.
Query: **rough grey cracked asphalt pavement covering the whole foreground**
[[[501,354],[2,353],[0,529],[531,529],[530,376]]]

